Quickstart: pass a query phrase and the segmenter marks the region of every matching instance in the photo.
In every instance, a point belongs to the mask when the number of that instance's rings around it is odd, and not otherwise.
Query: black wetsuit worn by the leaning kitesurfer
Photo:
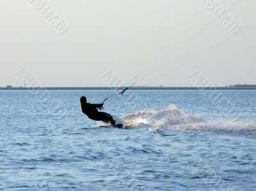
[[[112,118],[111,114],[108,114],[106,112],[99,112],[95,105],[91,103],[85,103],[81,105],[82,111],[88,118],[94,120],[94,121],[104,121],[104,122],[110,122],[112,125],[115,125],[115,121]]]

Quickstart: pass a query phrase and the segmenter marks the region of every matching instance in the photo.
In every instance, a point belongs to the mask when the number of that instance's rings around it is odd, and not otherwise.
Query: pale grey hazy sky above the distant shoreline
[[[42,1],[65,31],[36,1],[0,3],[2,87],[21,86],[13,74],[22,68],[46,87],[109,86],[108,72],[124,83],[138,76],[136,86],[193,86],[198,71],[217,86],[256,84],[255,0],[230,10],[237,0],[218,1],[239,20],[236,34],[202,0]]]

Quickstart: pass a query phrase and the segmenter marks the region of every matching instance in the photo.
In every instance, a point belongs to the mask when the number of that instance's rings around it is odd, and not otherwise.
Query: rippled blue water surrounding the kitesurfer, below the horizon
[[[256,190],[255,91],[221,91],[237,120],[199,90],[48,93],[0,91],[0,190]],[[128,128],[90,121],[82,95]]]

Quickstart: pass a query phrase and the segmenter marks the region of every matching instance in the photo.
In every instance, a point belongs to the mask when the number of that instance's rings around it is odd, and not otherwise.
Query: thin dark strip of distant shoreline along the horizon
[[[123,88],[111,88],[111,87],[45,87],[45,88],[0,88],[0,90],[118,90]],[[256,87],[208,87],[208,88],[196,88],[196,87],[130,87],[132,90],[256,90]]]

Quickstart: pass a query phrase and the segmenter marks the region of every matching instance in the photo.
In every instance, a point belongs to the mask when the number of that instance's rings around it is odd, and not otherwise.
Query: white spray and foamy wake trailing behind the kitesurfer
[[[161,111],[149,109],[128,114],[122,118],[130,127],[141,125],[150,126],[150,131],[180,130],[185,132],[218,132],[256,135],[255,123],[243,123],[241,121],[210,121],[204,118],[185,114],[175,105]]]

